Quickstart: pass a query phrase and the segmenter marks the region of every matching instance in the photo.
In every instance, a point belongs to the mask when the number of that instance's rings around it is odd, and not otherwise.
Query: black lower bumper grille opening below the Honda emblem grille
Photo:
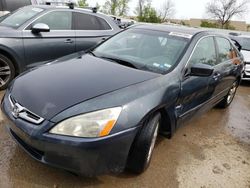
[[[10,129],[10,133],[11,135],[15,138],[15,140],[30,154],[32,155],[34,158],[36,158],[37,160],[42,160],[42,157],[44,156],[44,152],[33,148],[32,146],[26,144],[19,136],[16,135],[16,133],[14,133],[14,131],[12,131]]]

